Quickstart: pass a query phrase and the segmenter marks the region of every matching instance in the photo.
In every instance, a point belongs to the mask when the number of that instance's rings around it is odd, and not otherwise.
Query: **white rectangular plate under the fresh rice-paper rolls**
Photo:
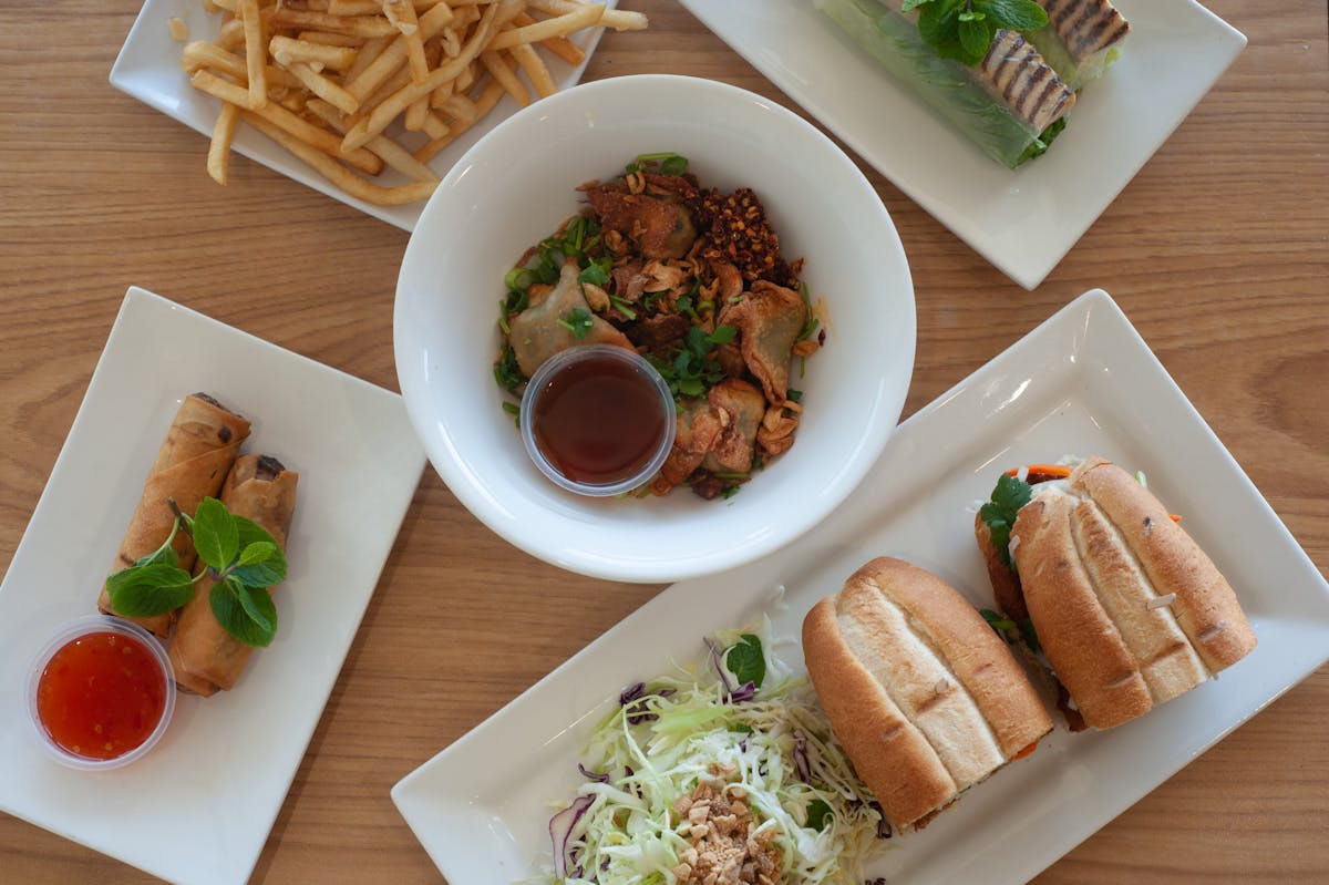
[[[1035,288],[1245,47],[1195,0],[1118,0],[1120,60],[1055,146],[1011,171],[901,88],[811,0],[682,0],[916,203]],[[1184,211],[1184,207],[1172,207]]]

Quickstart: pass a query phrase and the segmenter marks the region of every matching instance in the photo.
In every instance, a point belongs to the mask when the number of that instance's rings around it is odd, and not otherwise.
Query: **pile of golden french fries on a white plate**
[[[504,96],[525,106],[553,94],[542,52],[577,65],[585,54],[569,35],[647,24],[587,0],[202,3],[223,16],[221,32],[186,44],[181,65],[195,89],[222,101],[209,175],[226,183],[243,120],[347,194],[380,206],[432,194],[439,177],[429,159]],[[372,181],[384,169],[411,183]]]

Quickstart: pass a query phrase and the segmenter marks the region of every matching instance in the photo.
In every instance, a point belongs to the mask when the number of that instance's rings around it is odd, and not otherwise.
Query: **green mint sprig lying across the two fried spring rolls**
[[[122,615],[152,617],[194,598],[194,585],[210,575],[213,615],[247,646],[268,646],[276,635],[276,606],[267,593],[286,579],[286,555],[276,540],[253,520],[238,517],[217,498],[203,498],[194,516],[177,510],[175,525],[161,547],[106,578],[110,605]],[[205,567],[190,577],[171,547],[177,532],[194,538]]]

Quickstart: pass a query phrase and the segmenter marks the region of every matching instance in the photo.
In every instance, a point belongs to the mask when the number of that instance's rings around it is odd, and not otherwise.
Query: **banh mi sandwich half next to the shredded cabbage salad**
[[[1006,643],[950,585],[868,562],[803,621],[831,728],[898,831],[1033,751],[1053,722]]]

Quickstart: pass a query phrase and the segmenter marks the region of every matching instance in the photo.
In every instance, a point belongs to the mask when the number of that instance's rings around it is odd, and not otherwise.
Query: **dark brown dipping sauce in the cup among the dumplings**
[[[532,416],[536,445],[574,482],[611,485],[642,470],[666,433],[650,379],[613,356],[594,355],[556,372]]]

